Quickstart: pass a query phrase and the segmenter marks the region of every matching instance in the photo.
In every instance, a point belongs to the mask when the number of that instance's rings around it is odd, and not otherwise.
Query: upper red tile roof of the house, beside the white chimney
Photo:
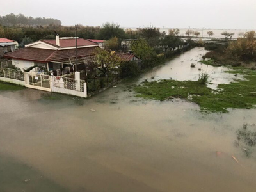
[[[45,40],[40,40],[41,42],[45,42],[47,44],[53,45],[54,47],[59,47],[56,45],[56,40],[55,39],[45,39]],[[83,38],[77,38],[77,47],[81,46],[90,46],[90,45],[98,45],[95,42],[92,42],[90,40],[85,40]],[[75,38],[67,38],[67,39],[60,39],[60,47],[76,47],[76,39]]]

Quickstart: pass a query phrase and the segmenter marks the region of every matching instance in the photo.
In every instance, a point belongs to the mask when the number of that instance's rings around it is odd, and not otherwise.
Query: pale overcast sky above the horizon
[[[256,29],[256,0],[1,0],[0,15],[9,13],[63,25]]]

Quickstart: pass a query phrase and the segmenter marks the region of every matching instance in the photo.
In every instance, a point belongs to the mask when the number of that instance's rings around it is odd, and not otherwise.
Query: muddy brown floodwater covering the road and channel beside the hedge
[[[191,69],[191,59],[204,52],[89,99],[0,92],[0,191],[255,191],[255,152],[234,146],[244,123],[255,129],[255,110],[202,114],[196,104],[139,99],[127,88],[152,76],[196,80],[189,74],[201,64]]]

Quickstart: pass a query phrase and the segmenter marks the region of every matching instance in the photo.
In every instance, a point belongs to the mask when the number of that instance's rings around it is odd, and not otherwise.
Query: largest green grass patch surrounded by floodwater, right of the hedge
[[[186,99],[200,106],[201,111],[227,113],[227,108],[252,109],[256,105],[255,70],[236,70],[230,73],[244,75],[244,80],[219,84],[212,90],[200,81],[144,81],[134,90],[137,97],[166,100],[172,97]]]

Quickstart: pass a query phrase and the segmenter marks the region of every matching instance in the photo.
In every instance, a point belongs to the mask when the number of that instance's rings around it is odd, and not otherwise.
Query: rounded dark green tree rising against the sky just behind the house
[[[103,24],[102,28],[100,28],[96,38],[109,40],[115,36],[124,39],[126,37],[124,29],[120,28],[119,24],[106,22],[106,24]]]

